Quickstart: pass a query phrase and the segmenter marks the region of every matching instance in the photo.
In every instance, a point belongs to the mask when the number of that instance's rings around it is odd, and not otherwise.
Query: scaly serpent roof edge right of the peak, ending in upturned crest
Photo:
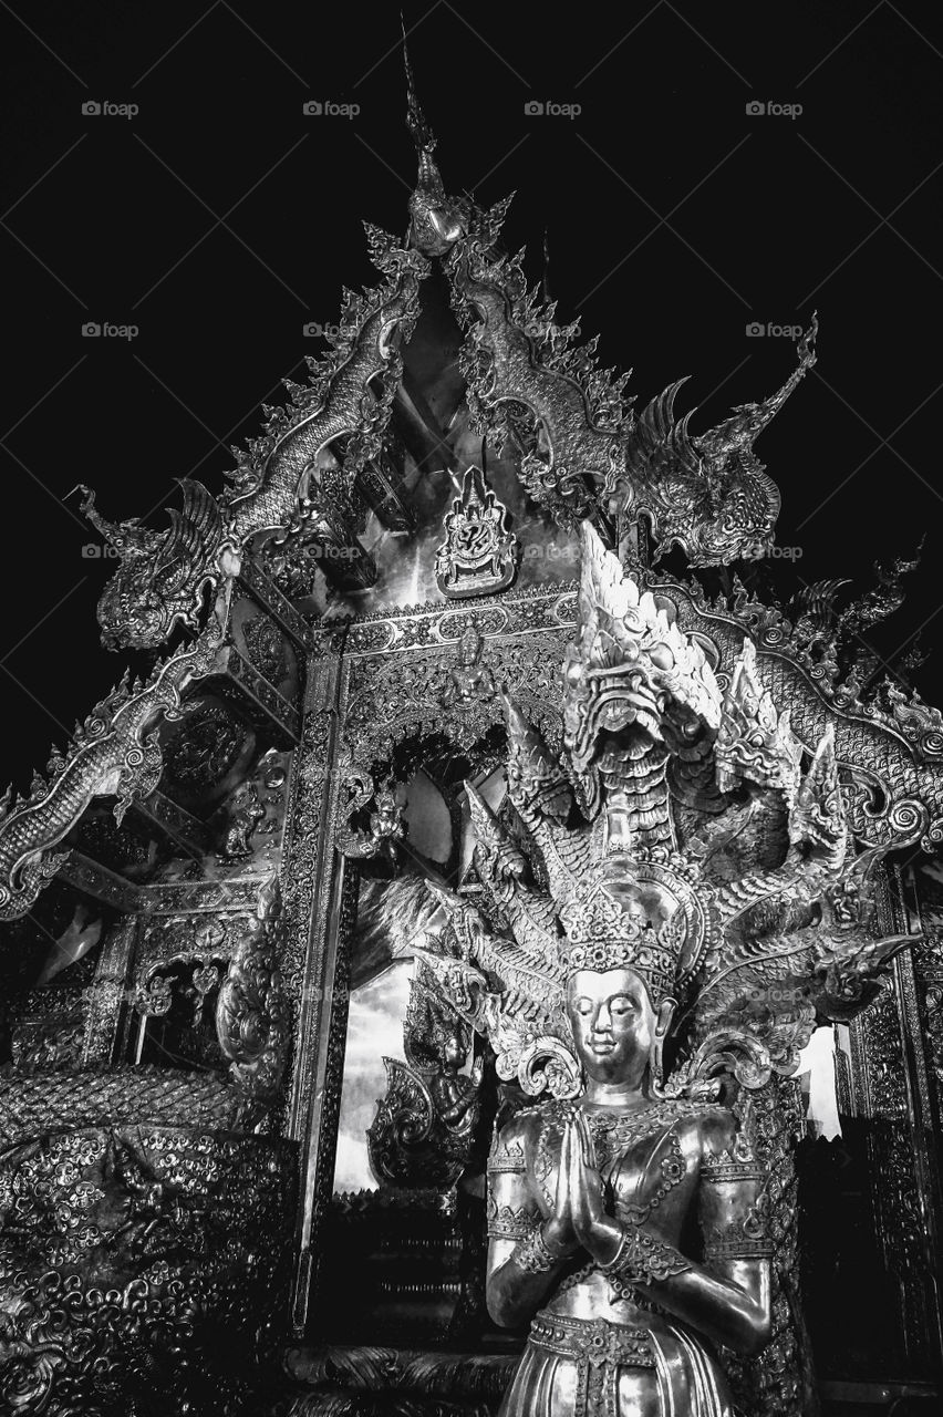
[[[514,441],[531,496],[565,526],[606,506],[620,537],[644,517],[654,547],[678,546],[690,565],[766,555],[780,496],[753,444],[816,363],[816,317],[786,383],[716,428],[692,435],[690,414],[675,419],[684,380],[636,417],[629,376],[598,366],[595,340],[575,343],[579,322],[555,322],[555,305],[527,286],[522,254],[493,249],[505,210],[474,214],[446,269],[466,330],[469,404],[483,431]]]

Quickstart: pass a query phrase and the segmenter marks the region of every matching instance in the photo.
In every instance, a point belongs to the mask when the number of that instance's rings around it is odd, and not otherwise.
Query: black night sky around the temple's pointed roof
[[[198,476],[299,374],[309,320],[375,276],[361,217],[405,227],[396,6],[127,6],[11,0],[0,245],[7,376],[0,452],[6,777],[119,676],[98,645],[110,571],[82,557],[76,483],[146,514]],[[16,14],[14,14],[16,11]],[[569,7],[406,6],[450,190],[517,200],[505,228],[561,315],[634,367],[641,401],[681,374],[692,428],[765,397],[806,323],[820,360],[758,451],[783,492],[779,541],[804,580],[867,580],[926,533],[910,602],[875,636],[889,662],[943,639],[940,111],[943,18],[851,0]],[[360,113],[306,116],[309,99]],[[136,103],[133,118],[82,105]],[[525,103],[579,103],[575,118]],[[797,118],[750,116],[750,101]],[[136,324],[85,339],[85,322]],[[684,405],[687,407],[687,404]],[[164,524],[157,513],[156,524]],[[793,568],[780,563],[789,581]],[[943,700],[943,653],[918,672]]]

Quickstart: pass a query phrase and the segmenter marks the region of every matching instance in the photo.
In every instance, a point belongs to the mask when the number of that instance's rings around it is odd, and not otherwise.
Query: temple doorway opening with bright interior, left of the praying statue
[[[479,901],[466,784],[508,811],[496,726],[459,748],[405,740],[375,777],[395,829],[360,857],[337,1159],[314,1322],[333,1345],[498,1353],[514,1339],[484,1309],[486,1156],[507,1084],[487,1043],[442,998],[423,947],[443,928],[436,890]],[[360,833],[360,836],[358,836]],[[370,840],[370,813],[350,840]],[[371,850],[368,846],[367,850]],[[525,1098],[518,1088],[515,1104]],[[351,1264],[354,1289],[343,1282]]]

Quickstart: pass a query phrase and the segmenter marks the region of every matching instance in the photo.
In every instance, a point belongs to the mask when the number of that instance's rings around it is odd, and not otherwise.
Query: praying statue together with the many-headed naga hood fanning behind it
[[[416,954],[548,1098],[488,1162],[488,1311],[530,1323],[501,1417],[733,1417],[721,1350],[799,1382],[775,1074],[912,937],[884,930],[891,839],[855,840],[834,723],[803,744],[749,639],[722,690],[678,604],[582,540],[562,741],[505,699],[518,829],[466,785],[490,908],[436,890]]]

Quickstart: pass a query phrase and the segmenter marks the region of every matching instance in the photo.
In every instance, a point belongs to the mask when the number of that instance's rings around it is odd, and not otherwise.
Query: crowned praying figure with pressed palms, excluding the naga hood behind
[[[630,941],[569,951],[582,1095],[496,1138],[488,1311],[531,1321],[501,1417],[732,1417],[712,1345],[769,1340],[763,1168],[729,1110],[658,1095],[668,958]]]

